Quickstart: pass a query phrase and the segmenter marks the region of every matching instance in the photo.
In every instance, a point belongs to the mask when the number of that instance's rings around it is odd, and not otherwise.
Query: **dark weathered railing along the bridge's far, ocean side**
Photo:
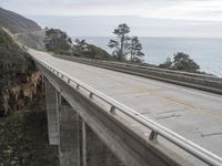
[[[139,76],[150,77],[178,85],[193,87],[202,91],[222,94],[222,79],[213,75],[172,71],[145,65],[135,65],[122,62],[111,62],[53,54],[57,58],[130,73]]]

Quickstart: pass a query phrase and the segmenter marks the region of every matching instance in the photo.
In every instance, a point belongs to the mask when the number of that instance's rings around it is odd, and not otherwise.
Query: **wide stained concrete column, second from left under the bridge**
[[[79,115],[58,93],[60,166],[80,166]]]

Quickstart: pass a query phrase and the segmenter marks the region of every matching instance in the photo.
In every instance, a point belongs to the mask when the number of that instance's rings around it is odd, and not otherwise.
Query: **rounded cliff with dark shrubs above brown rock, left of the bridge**
[[[40,84],[32,60],[0,29],[0,116],[32,101]]]

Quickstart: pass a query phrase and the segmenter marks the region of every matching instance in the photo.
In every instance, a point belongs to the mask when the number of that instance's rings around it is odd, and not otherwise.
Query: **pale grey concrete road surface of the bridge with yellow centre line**
[[[29,52],[222,157],[221,95]]]

